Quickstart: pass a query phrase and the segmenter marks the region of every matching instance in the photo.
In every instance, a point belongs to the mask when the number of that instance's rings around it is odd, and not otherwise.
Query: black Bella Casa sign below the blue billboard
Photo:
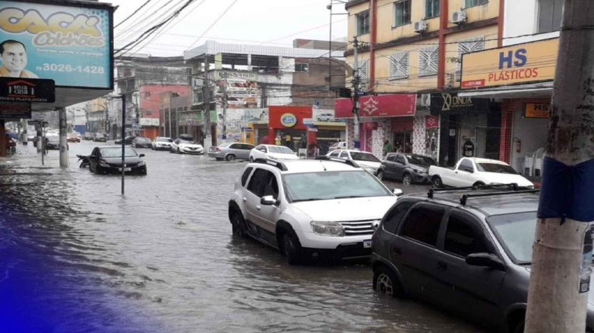
[[[0,101],[54,103],[54,80],[0,77]]]

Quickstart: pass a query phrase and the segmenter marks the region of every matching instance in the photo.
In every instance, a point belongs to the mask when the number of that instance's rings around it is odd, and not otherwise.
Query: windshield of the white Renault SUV
[[[388,191],[367,171],[321,171],[284,176],[284,185],[293,202],[390,196]]]

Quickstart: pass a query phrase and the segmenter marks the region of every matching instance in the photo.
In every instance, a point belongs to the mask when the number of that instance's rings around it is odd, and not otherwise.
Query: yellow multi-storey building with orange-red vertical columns
[[[414,116],[362,118],[362,150],[384,155],[388,140],[400,151],[432,155],[448,163],[461,156],[467,141],[475,144],[475,156],[493,156],[496,146],[498,151],[498,144],[486,144],[486,137],[497,135],[483,130],[487,123],[497,122],[491,116],[487,119],[491,112],[483,109],[488,103],[477,103],[472,109],[471,101],[464,112],[447,115],[437,107],[445,103],[442,94],[458,100],[464,53],[501,46],[504,0],[351,0],[345,6],[349,42],[356,37],[359,44],[361,89],[378,95],[417,94]],[[346,51],[351,65],[353,47],[354,43],[349,44]],[[459,126],[444,127],[444,123]],[[354,127],[352,122],[347,124],[351,141]]]

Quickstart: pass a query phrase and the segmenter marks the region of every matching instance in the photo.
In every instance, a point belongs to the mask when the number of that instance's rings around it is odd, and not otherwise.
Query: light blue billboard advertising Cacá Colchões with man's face
[[[2,1],[0,76],[112,88],[111,9]]]

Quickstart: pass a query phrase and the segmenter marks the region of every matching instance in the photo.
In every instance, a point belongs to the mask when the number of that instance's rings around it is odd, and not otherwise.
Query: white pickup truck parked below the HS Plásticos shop
[[[435,188],[513,183],[524,189],[534,188],[530,180],[522,177],[509,164],[486,158],[463,157],[453,168],[432,165],[428,173]]]

